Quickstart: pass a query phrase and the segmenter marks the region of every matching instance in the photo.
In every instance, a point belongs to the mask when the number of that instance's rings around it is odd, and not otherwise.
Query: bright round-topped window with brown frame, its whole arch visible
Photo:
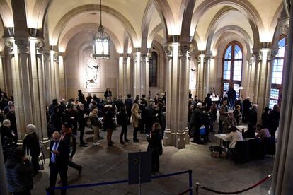
[[[226,95],[229,87],[236,90],[239,96],[241,86],[243,48],[239,42],[232,41],[227,45],[223,56],[222,94]]]

